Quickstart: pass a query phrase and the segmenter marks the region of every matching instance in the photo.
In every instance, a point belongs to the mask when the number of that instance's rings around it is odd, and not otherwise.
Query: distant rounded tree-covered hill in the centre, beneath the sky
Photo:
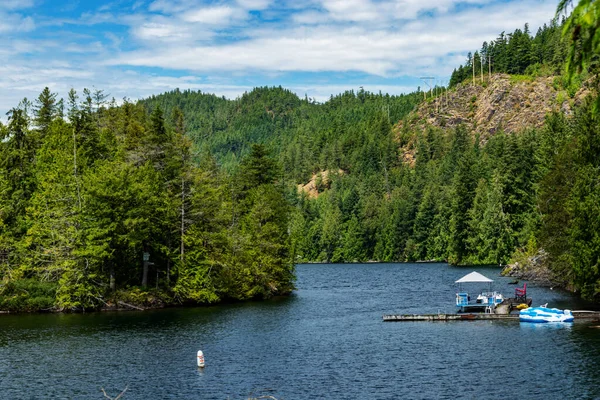
[[[164,115],[171,116],[173,110],[180,109],[194,144],[207,147],[230,173],[253,144],[263,144],[273,152],[283,172],[300,183],[318,170],[345,170],[359,158],[366,164],[377,164],[380,145],[387,145],[376,140],[380,138],[377,132],[389,131],[391,124],[406,116],[421,99],[419,93],[390,96],[361,89],[318,104],[299,99],[281,87],[261,87],[234,101],[176,90],[141,104],[148,111],[160,106]],[[176,125],[173,118],[165,123]],[[363,141],[365,136],[370,139]]]

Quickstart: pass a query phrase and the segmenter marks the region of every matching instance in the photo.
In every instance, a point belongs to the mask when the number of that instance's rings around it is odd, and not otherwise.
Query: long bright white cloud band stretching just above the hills
[[[109,60],[108,64],[202,73],[359,71],[391,77],[418,75],[420,71],[429,70],[436,74],[449,74],[451,70],[442,70],[448,68],[447,63],[438,61],[448,54],[466,55],[468,51],[477,50],[484,40],[495,38],[502,30],[512,31],[528,21],[533,27],[549,20],[554,5],[533,7],[532,3],[539,2],[530,0],[429,16],[395,29],[387,26],[375,29],[376,25],[362,24],[344,27],[332,23],[310,29],[261,28],[260,31],[250,31],[250,38],[244,41],[185,45],[160,52],[138,50]],[[349,10],[345,5],[336,3],[335,6],[339,6],[340,15]],[[358,18],[357,15],[369,15],[369,9],[347,18]],[[511,21],[510,26],[507,26],[507,20]]]

